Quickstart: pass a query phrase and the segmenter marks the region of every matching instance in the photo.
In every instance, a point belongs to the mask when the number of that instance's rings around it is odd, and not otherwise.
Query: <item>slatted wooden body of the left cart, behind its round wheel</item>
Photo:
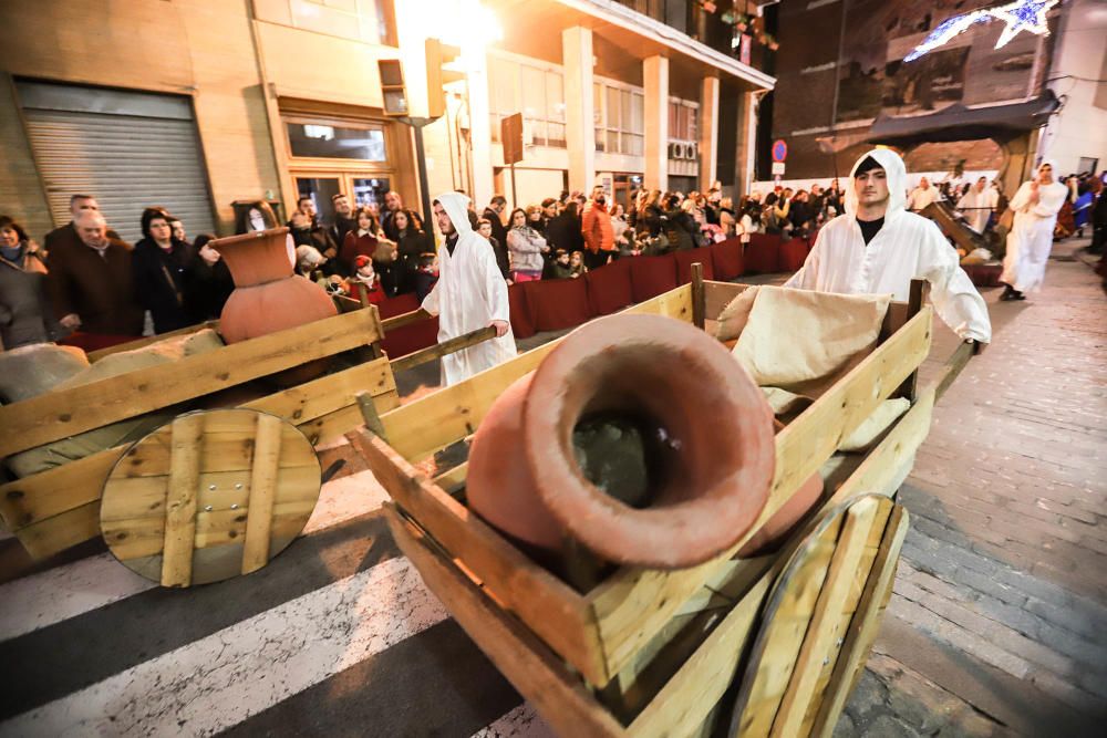
[[[341,438],[361,423],[360,394],[368,393],[382,408],[400,405],[389,360],[379,350],[383,335],[376,310],[359,310],[13,403],[0,407],[0,457],[155,410],[184,412],[185,404],[195,401],[268,413],[294,425],[313,445]],[[95,363],[164,337],[94,352],[89,358]],[[354,352],[364,363],[275,394],[259,397],[255,392],[247,402],[240,395],[220,398],[224,391],[244,383],[343,352]],[[126,448],[121,445],[0,486],[0,519],[34,559],[99,537],[102,490]]]

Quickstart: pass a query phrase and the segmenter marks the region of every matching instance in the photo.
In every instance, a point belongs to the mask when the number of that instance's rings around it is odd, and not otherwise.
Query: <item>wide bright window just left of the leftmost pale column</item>
[[[496,58],[488,65],[492,86],[492,137],[500,121],[523,113],[523,141],[565,148],[565,80],[560,71]]]

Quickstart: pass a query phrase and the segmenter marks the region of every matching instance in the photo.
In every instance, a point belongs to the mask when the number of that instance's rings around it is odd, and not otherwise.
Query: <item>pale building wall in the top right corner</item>
[[[1049,83],[1064,107],[1043,132],[1038,155],[1056,159],[1062,174],[1075,171],[1082,156],[1099,159],[1107,169],[1107,2],[1072,0],[1062,19],[1061,39]],[[1077,79],[1080,77],[1080,79]],[[1099,80],[1099,82],[1096,82]]]

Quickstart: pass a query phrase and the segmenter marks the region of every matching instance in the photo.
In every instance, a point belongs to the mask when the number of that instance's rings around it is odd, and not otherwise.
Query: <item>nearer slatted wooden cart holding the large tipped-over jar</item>
[[[702,328],[743,289],[695,281],[629,312]],[[918,290],[911,304],[890,305],[872,353],[777,435],[769,501],[747,536],[704,564],[624,567],[588,591],[465,507],[464,464],[433,479],[415,466],[470,436],[555,344],[382,412],[369,418],[372,430],[349,437],[393,499],[389,522],[404,553],[558,734],[692,736],[730,726],[749,736],[829,735],[891,589],[907,513],[890,498],[929,432],[935,397],[971,355],[965,345],[940,384],[915,392],[930,344],[931,308]],[[910,410],[784,549],[736,559],[840,440],[897,394],[911,398]]]

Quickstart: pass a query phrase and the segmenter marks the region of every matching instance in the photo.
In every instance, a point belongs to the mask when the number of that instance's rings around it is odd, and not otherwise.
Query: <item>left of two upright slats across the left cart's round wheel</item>
[[[204,415],[184,415],[173,422],[173,455],[165,500],[165,543],[162,586],[188,586],[193,581],[196,538],[196,495],[200,474]]]

